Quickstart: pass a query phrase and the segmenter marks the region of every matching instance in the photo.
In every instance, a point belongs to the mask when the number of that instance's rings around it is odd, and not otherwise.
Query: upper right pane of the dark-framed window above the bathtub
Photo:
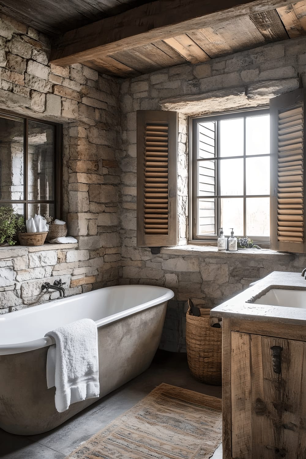
[[[54,127],[50,124],[28,122],[28,199],[52,200]]]

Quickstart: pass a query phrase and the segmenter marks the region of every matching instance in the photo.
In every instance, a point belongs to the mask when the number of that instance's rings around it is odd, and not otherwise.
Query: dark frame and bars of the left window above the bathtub
[[[7,110],[0,109],[0,118],[8,119],[23,119],[23,171],[24,171],[24,184],[23,184],[23,197],[27,199],[19,200],[4,200],[0,199],[0,206],[7,204],[23,204],[24,209],[24,218],[28,219],[28,204],[53,204],[54,205],[54,215],[51,215],[53,218],[62,218],[62,208],[63,208],[63,187],[62,187],[62,136],[63,136],[63,126],[60,123],[55,123],[53,121],[28,117],[16,112],[10,112]],[[33,121],[35,123],[50,124],[54,126],[53,130],[53,190],[54,197],[52,200],[30,200],[28,199],[28,122]],[[1,186],[1,184],[0,184]]]

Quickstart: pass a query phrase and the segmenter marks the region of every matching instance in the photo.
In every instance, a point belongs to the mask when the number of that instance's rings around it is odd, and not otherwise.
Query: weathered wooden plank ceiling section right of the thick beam
[[[128,77],[199,63],[306,34],[306,1],[190,30],[171,38],[85,61],[101,73]]]

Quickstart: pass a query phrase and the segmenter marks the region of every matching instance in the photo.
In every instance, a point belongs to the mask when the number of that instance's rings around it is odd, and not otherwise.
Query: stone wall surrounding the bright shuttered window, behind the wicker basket
[[[184,246],[188,234],[187,115],[260,107],[269,98],[306,83],[306,39],[291,39],[197,65],[170,67],[130,78],[121,84],[122,116],[122,271],[123,284],[171,288],[177,302],[169,305],[162,346],[184,351],[184,301],[212,307],[274,270],[301,271],[306,257],[267,250],[218,253],[214,247]],[[179,112],[177,248],[136,246],[136,111]]]

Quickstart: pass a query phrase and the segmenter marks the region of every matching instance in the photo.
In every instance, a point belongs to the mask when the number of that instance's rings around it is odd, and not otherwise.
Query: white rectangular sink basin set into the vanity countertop
[[[283,290],[273,288],[254,303],[287,308],[306,309],[306,290]]]

